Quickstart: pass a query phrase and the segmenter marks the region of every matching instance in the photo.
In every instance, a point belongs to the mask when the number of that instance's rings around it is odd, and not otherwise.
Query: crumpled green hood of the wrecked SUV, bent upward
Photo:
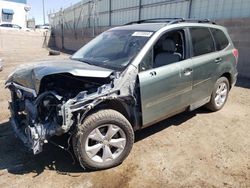
[[[107,78],[112,72],[110,69],[70,59],[42,61],[20,66],[9,75],[6,84],[17,83],[38,93],[42,78],[48,75],[69,73],[74,76]]]

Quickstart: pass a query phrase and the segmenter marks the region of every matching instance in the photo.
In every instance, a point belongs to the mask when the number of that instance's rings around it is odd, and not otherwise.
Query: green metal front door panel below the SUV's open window
[[[139,73],[144,127],[190,104],[192,75],[184,74],[190,66],[184,60]]]

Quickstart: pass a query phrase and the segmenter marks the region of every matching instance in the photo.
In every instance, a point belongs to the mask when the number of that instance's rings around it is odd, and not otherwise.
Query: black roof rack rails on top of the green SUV
[[[167,23],[168,25],[177,24],[180,22],[196,22],[196,23],[211,23],[216,24],[215,22],[209,19],[186,19],[186,18],[153,18],[153,19],[145,19],[145,20],[138,20],[126,23],[125,25],[132,25],[132,24],[141,24],[141,23]]]

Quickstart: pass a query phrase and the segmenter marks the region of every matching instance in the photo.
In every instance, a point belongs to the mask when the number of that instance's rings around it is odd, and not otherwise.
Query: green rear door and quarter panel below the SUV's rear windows
[[[193,91],[192,103],[211,96],[215,82],[225,73],[231,75],[231,86],[236,81],[236,60],[232,54],[234,47],[230,44],[226,49],[193,57]],[[219,60],[219,61],[218,61]]]

